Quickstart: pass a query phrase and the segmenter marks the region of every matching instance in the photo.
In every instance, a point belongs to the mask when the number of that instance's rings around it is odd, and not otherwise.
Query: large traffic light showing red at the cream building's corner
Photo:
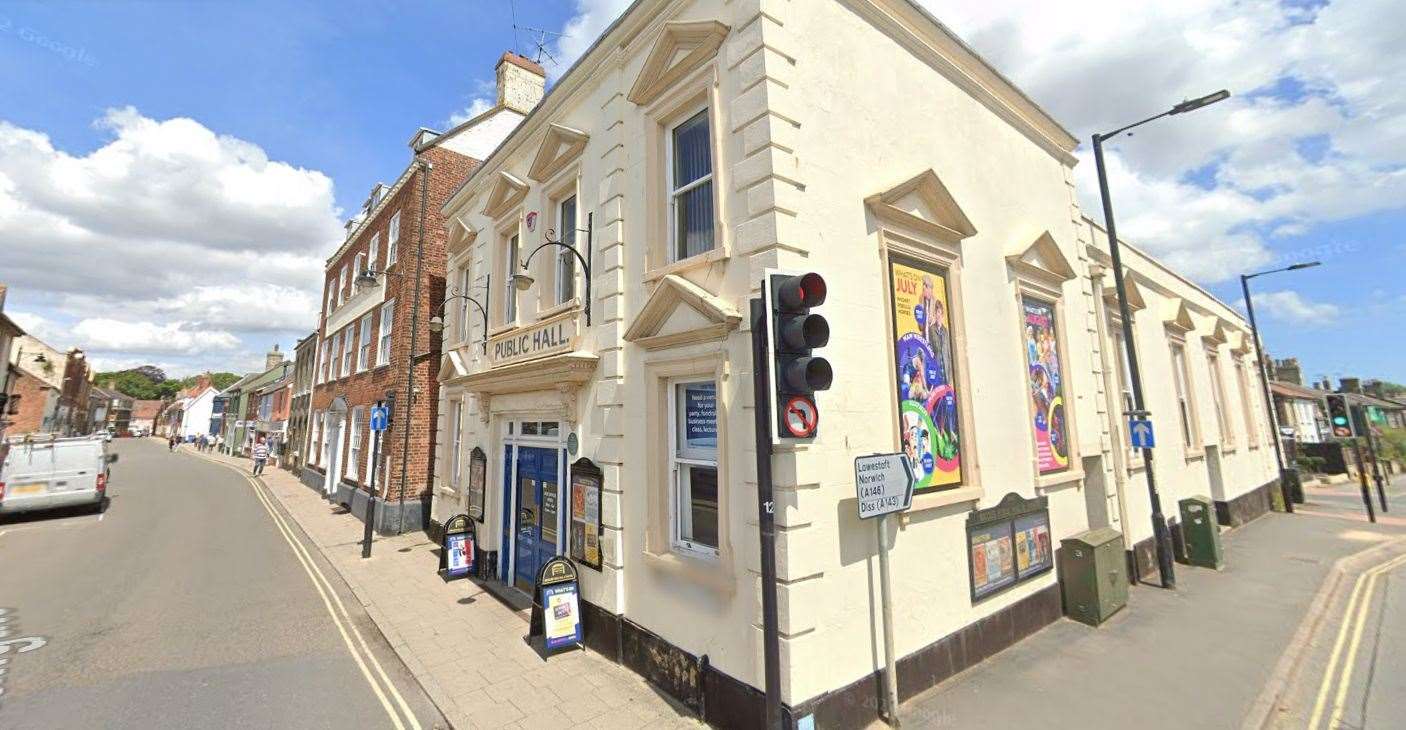
[[[825,302],[825,280],[817,273],[766,274],[768,349],[776,436],[813,439],[820,428],[815,391],[834,380],[830,361],[814,350],[830,342],[830,322],[811,312]]]

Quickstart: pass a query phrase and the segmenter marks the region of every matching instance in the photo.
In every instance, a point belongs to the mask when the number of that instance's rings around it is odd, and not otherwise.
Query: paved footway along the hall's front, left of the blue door
[[[197,454],[242,471],[250,461]],[[443,581],[425,533],[377,536],[361,558],[363,523],[292,473],[260,482],[350,585],[419,685],[458,730],[527,727],[702,727],[637,674],[591,651],[543,658],[527,641],[526,601],[505,601],[477,579]]]

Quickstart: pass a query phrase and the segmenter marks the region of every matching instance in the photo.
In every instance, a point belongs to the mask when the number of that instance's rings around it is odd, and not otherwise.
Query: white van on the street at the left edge
[[[25,437],[0,444],[0,515],[91,505],[101,512],[108,464],[103,436]]]

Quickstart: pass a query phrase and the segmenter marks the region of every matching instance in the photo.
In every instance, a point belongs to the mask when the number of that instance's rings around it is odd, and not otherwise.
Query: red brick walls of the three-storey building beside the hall
[[[343,263],[354,266],[357,253],[367,252],[370,241],[377,232],[381,233],[380,263],[381,267],[384,267],[388,256],[387,235],[391,217],[395,215],[396,211],[402,211],[401,238],[396,242],[396,263],[388,269],[389,276],[385,277],[385,298],[395,300],[395,325],[391,335],[391,361],[384,367],[373,367],[363,373],[356,373],[332,383],[319,384],[314,388],[312,394],[312,411],[315,414],[326,411],[332,405],[333,399],[342,397],[346,399],[347,418],[350,418],[353,408],[374,405],[375,401],[385,398],[388,390],[395,391],[395,419],[391,429],[387,430],[381,439],[381,463],[385,468],[385,482],[391,485],[387,497],[392,501],[426,494],[433,488],[434,423],[439,408],[440,347],[439,336],[432,335],[426,324],[430,316],[436,314],[437,307],[444,300],[444,246],[449,236],[440,208],[478,165],[478,162],[471,158],[440,148],[430,148],[422,152],[419,159],[432,165],[429,173],[415,170],[409,176],[401,190],[398,190],[395,196],[381,208],[381,212],[363,226],[356,241],[346,246],[340,256],[328,263],[326,277],[323,280],[322,305],[325,307],[328,291],[335,291],[332,287],[339,284]],[[416,394],[413,397],[413,402],[406,404],[406,370],[411,360],[411,319],[413,316],[412,312],[416,308],[415,271],[420,241],[420,187],[422,176],[426,174],[427,179],[423,180],[423,184],[427,188],[425,200],[426,204],[423,207],[425,257],[420,276],[415,352],[429,353],[429,356],[415,364],[413,383]],[[360,342],[357,342],[360,338],[359,326],[353,324],[346,328],[346,332],[352,333],[353,346],[356,347],[353,352],[360,352]],[[326,332],[326,325],[323,322],[318,332],[319,352],[322,340],[328,336],[329,332]],[[373,318],[371,342],[374,343],[378,340],[380,312],[377,311]],[[333,357],[337,356],[339,353],[333,353]],[[357,356],[354,354],[353,364],[356,360]],[[318,376],[321,376],[321,370],[319,363]],[[401,452],[405,443],[404,429],[406,425],[409,425],[409,457],[405,468],[406,478],[402,484]],[[316,423],[309,428],[314,429],[314,433],[318,433]],[[359,430],[361,439],[361,453],[368,454],[371,450],[371,433],[366,428],[364,421]],[[343,440],[349,439],[350,433],[352,429],[349,426],[342,428]],[[350,453],[350,447],[347,447],[347,453]],[[353,481],[366,485],[368,481],[366,460],[360,459],[359,461],[361,463],[350,464],[356,474]],[[377,484],[378,491],[381,491],[381,480],[377,480]]]

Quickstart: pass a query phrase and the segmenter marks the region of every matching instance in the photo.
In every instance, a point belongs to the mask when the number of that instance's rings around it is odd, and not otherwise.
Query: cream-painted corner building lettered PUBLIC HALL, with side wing
[[[471,515],[516,589],[571,556],[588,646],[758,724],[747,312],[765,270],[817,271],[835,383],[772,467],[787,716],[875,719],[856,456],[918,475],[889,536],[903,696],[1056,620],[1060,539],[1152,534],[1076,146],[907,0],[636,3],[444,207],[436,522]],[[1277,471],[1246,325],[1126,257],[1167,513],[1249,519]]]

